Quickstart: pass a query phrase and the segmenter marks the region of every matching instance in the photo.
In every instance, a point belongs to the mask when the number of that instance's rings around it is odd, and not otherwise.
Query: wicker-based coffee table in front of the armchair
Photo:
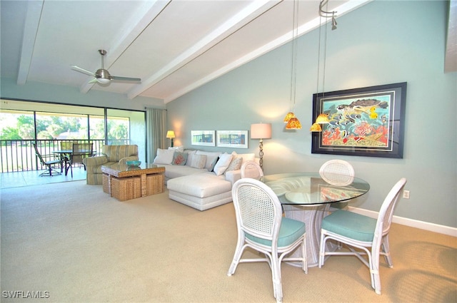
[[[165,168],[154,164],[102,166],[103,191],[119,201],[164,192]]]

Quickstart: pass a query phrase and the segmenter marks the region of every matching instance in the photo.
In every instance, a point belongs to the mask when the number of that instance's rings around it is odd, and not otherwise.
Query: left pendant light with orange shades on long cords
[[[296,59],[297,59],[297,36],[298,36],[298,0],[293,0],[293,28],[292,28],[292,71],[291,71],[291,103],[292,111],[287,113],[284,118],[286,129],[301,129],[301,123],[296,118],[293,110],[295,109],[296,98]]]

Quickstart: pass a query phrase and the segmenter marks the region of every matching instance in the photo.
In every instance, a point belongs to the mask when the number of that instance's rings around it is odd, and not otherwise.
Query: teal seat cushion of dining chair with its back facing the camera
[[[291,245],[301,237],[305,231],[305,223],[283,217],[281,220],[281,227],[279,228],[278,247]],[[246,234],[246,237],[259,244],[271,246],[270,240],[261,239],[248,234]]]

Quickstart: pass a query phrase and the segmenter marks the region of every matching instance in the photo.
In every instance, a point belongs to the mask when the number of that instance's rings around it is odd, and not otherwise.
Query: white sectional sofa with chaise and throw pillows
[[[165,168],[171,200],[197,210],[208,210],[232,201],[231,187],[241,178],[241,165],[248,160],[258,162],[253,153],[169,148],[157,150],[154,164]]]

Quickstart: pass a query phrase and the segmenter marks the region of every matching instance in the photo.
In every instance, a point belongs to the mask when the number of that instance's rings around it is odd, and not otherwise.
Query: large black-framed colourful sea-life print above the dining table
[[[406,82],[313,94],[311,153],[403,158]]]

